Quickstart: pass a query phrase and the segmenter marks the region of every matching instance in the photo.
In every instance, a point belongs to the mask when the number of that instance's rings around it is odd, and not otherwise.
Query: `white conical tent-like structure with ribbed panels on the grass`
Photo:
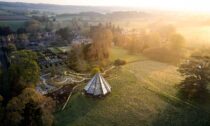
[[[101,76],[100,73],[97,73],[85,86],[84,90],[87,94],[94,96],[104,96],[111,92],[111,86],[108,82]]]

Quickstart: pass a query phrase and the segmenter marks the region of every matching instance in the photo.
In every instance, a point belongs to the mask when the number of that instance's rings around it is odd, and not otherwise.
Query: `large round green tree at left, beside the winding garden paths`
[[[34,87],[39,81],[40,68],[36,53],[28,50],[11,54],[9,82],[12,95],[17,95],[26,87]]]

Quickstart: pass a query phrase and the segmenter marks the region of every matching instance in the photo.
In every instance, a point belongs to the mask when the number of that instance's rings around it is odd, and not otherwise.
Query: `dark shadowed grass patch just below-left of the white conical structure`
[[[74,94],[66,109],[55,113],[55,126],[70,126],[85,117],[100,100],[103,98],[93,98],[81,92]]]

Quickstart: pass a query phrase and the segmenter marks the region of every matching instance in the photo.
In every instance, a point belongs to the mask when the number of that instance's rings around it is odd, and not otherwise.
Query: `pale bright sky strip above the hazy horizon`
[[[1,0],[2,1],[2,0]],[[125,6],[149,9],[210,12],[209,0],[3,0],[61,5]]]

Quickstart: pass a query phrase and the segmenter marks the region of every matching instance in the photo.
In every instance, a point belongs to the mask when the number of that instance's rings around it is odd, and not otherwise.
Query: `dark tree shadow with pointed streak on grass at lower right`
[[[154,93],[169,105],[152,120],[152,126],[210,126],[210,113],[200,106]]]

